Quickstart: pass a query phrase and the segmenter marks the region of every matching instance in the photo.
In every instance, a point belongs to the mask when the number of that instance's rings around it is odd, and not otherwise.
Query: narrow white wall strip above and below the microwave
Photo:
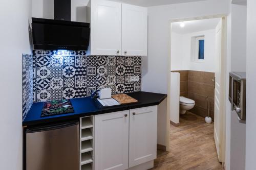
[[[246,6],[231,5],[231,71],[246,71]],[[231,107],[228,103],[227,107]],[[244,124],[236,112],[227,112],[230,120],[230,169],[245,169]]]

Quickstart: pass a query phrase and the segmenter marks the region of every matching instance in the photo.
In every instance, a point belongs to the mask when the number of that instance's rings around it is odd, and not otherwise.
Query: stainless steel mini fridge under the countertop
[[[27,170],[79,170],[79,123],[26,130]]]

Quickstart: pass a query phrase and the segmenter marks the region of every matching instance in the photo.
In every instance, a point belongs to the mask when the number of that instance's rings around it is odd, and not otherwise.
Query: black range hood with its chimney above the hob
[[[70,0],[55,0],[54,19],[32,18],[35,50],[87,50],[90,23],[70,21],[70,6]]]

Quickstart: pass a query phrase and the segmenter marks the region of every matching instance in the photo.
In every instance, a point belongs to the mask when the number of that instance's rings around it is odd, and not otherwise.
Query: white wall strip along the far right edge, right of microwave
[[[246,170],[255,169],[256,158],[256,1],[247,0],[247,58],[246,58]]]

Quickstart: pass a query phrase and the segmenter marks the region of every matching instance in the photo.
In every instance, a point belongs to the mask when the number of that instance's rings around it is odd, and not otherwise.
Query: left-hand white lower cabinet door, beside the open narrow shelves
[[[95,116],[95,169],[123,170],[129,161],[129,111]]]

